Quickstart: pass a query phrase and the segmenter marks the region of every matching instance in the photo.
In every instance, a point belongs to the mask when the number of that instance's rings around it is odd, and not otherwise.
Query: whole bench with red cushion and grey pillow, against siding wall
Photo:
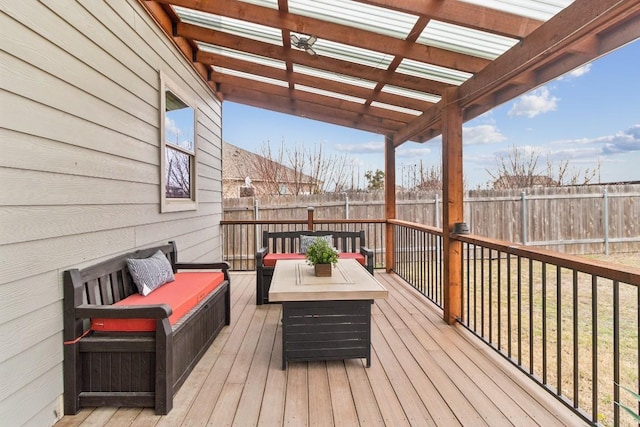
[[[180,263],[174,242],[64,272],[64,407],[154,407],[230,323],[229,265]]]

